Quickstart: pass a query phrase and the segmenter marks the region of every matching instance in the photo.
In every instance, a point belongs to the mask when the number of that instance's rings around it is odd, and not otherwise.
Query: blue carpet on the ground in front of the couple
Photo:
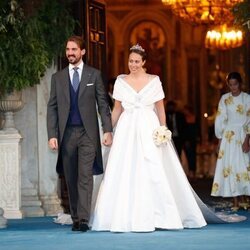
[[[210,224],[202,229],[153,233],[72,232],[71,226],[53,223],[52,217],[9,220],[0,230],[1,250],[249,250],[250,212],[246,221]]]

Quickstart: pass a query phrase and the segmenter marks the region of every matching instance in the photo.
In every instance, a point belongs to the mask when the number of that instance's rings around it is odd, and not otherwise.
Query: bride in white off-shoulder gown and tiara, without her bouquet
[[[159,77],[147,74],[144,64],[144,49],[133,46],[130,73],[115,82],[114,139],[92,230],[151,232],[201,228],[209,219],[221,222],[192,190],[171,141],[154,143],[153,131],[166,126],[164,92]]]

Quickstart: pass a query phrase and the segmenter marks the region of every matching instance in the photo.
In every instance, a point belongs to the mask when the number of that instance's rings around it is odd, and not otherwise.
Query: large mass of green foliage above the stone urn
[[[38,84],[64,50],[75,28],[73,17],[57,0],[43,0],[25,16],[17,0],[0,3],[0,93]]]

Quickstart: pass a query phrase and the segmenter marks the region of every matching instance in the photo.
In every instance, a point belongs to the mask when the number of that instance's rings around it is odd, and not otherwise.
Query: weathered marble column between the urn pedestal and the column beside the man
[[[15,124],[23,137],[21,142],[21,200],[24,217],[44,216],[39,197],[36,91],[36,87],[23,90],[24,107],[15,113]]]

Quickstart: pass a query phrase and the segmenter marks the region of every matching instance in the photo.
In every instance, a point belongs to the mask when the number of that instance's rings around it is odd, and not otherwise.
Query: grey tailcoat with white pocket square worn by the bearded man
[[[48,139],[57,138],[59,144],[56,166],[57,173],[59,174],[63,173],[60,145],[70,110],[69,84],[70,77],[68,67],[53,74],[51,78],[50,98],[47,106]],[[103,173],[103,166],[96,105],[101,117],[103,132],[111,132],[111,115],[101,72],[84,64],[80,82],[78,106],[86,133],[96,148],[93,174],[101,174]]]

